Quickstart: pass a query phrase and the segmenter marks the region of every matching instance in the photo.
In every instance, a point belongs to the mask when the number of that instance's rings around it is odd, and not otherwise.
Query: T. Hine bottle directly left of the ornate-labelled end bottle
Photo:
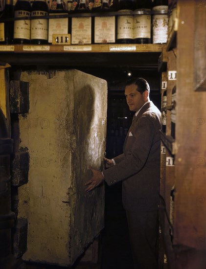
[[[151,43],[151,0],[137,0],[134,15],[134,43]]]

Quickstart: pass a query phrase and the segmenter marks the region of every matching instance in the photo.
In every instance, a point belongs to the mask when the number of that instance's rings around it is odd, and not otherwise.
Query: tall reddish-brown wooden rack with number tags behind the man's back
[[[205,21],[206,17],[204,8],[205,5],[200,5],[200,2],[177,1],[177,18],[168,36],[166,51],[161,53],[158,64],[162,96],[165,90],[167,92],[167,123],[166,132],[161,131],[160,172],[160,229],[163,241],[163,249],[160,250],[161,256],[166,254],[167,266],[162,263],[161,268],[206,268],[205,246],[201,242],[205,238],[206,225],[203,217],[206,202],[201,200],[205,199],[206,193],[205,158],[201,157],[205,156],[206,149],[203,61],[197,68],[197,53],[205,59],[205,51],[197,50],[198,41],[205,40],[205,30],[201,25],[201,20]],[[195,37],[194,45],[191,40]],[[198,79],[201,79],[202,86],[195,94]],[[172,96],[174,87],[175,105]],[[174,109],[175,138],[171,130]]]

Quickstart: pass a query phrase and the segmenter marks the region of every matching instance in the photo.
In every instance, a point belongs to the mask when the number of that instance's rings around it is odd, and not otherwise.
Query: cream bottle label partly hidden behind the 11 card
[[[65,13],[55,13],[61,15]],[[53,34],[68,34],[68,18],[57,18],[48,20],[48,43],[52,43]]]

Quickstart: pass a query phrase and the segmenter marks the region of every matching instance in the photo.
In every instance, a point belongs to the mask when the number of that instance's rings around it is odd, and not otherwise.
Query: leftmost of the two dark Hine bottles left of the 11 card
[[[17,0],[14,7],[14,43],[29,44],[31,34],[31,4],[29,0]],[[22,20],[19,18],[23,18]]]

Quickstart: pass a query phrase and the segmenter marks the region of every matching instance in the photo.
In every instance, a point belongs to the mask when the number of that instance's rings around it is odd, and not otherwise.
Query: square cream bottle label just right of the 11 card
[[[92,42],[92,18],[72,18],[71,44],[91,44]]]

